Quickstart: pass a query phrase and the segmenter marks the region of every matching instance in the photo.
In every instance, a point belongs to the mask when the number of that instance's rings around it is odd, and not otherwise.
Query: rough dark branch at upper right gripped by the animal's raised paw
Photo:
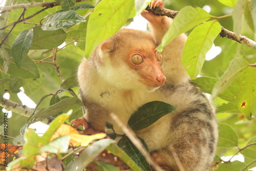
[[[147,7],[146,10],[152,11],[153,14],[155,14],[155,15],[167,16],[170,18],[174,18],[179,13],[179,11],[173,11],[173,10],[169,10],[169,9],[162,8],[162,7],[156,7],[155,9],[150,9],[149,7]],[[219,35],[221,37],[226,37],[231,40],[237,41],[240,44],[244,44],[244,45],[256,50],[256,42],[255,41],[253,41],[243,35],[240,35],[240,40],[238,40],[236,33],[231,32],[231,31],[225,29],[224,27],[221,27],[221,32],[219,33]]]

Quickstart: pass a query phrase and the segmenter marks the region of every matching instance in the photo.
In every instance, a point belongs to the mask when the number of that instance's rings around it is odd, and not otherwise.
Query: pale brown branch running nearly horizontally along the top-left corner
[[[91,1],[91,0],[77,0],[76,3],[83,2],[83,1]],[[28,3],[28,4],[18,4],[18,5],[12,5],[12,6],[6,6],[6,7],[0,7],[0,10],[3,12],[16,10],[20,8],[33,8],[33,7],[54,7],[59,6],[60,4],[57,2],[42,2],[42,3]]]

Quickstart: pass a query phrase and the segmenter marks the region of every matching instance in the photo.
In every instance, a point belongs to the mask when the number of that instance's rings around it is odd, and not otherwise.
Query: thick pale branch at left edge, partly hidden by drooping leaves
[[[20,114],[20,115],[23,115],[26,117],[30,117],[34,111],[34,109],[29,108],[26,105],[16,103],[16,102],[8,100],[6,98],[3,98],[2,102],[0,103],[0,106],[5,108],[7,111],[12,111],[12,112],[15,112],[17,114]],[[37,113],[37,111],[35,111],[35,113]],[[53,117],[48,117],[46,119],[40,120],[40,122],[49,124],[53,119],[54,119]]]

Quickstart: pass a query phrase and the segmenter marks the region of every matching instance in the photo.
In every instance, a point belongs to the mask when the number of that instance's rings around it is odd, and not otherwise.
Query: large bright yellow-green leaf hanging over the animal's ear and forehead
[[[133,6],[134,0],[103,0],[95,7],[87,26],[86,58],[101,41],[112,36],[125,24]]]

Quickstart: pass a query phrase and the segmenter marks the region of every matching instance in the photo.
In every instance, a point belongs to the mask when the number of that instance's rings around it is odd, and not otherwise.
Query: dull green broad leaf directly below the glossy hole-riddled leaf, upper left
[[[67,37],[64,30],[44,31],[41,27],[34,29],[33,42],[30,49],[52,49],[61,45]]]

